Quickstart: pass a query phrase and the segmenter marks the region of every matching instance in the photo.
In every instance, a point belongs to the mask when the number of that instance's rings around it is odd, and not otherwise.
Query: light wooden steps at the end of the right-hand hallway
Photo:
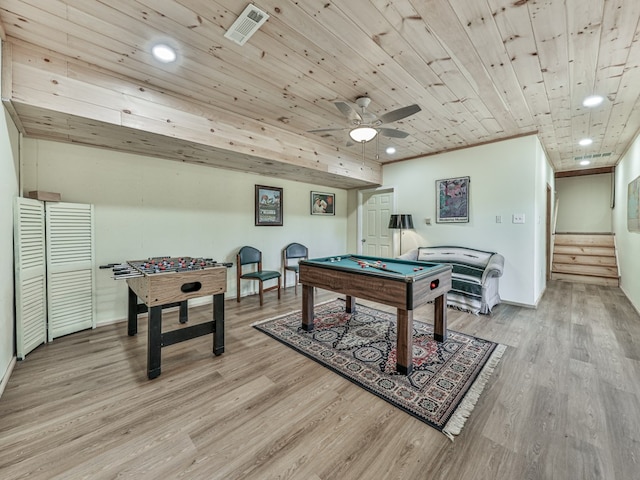
[[[619,286],[615,237],[610,233],[556,233],[551,278]]]

